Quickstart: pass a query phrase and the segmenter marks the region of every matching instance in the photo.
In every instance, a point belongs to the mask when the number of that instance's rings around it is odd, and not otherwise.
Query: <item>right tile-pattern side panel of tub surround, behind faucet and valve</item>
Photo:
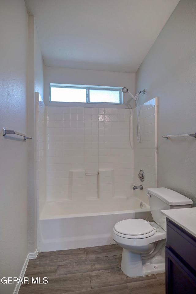
[[[148,199],[146,188],[157,187],[157,103],[158,98],[156,97],[141,105],[139,115],[140,143],[136,137],[137,110],[134,109],[134,185],[143,185],[143,191],[136,190],[134,195],[138,195],[140,198],[144,197],[145,200]],[[142,183],[137,177],[141,169],[145,174],[145,180]]]

